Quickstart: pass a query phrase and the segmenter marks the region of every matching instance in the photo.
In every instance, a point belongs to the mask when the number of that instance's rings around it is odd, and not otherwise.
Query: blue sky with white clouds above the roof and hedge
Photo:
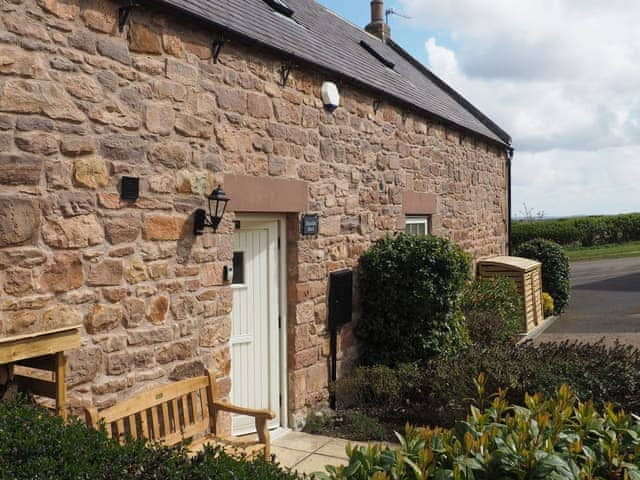
[[[369,0],[319,0],[363,27]],[[386,0],[391,36],[511,134],[514,215],[640,211],[640,2]]]

